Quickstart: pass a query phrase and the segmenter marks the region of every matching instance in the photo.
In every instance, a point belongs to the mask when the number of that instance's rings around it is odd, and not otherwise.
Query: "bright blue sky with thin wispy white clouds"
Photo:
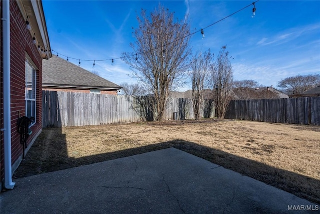
[[[132,52],[132,27],[141,9],[152,12],[160,3],[175,18],[188,14],[191,32],[250,5],[252,1],[42,1],[51,49],[59,57],[115,83],[135,83],[121,59],[93,62],[83,60],[116,59]],[[259,1],[256,15],[250,7],[204,29],[190,39],[194,52],[211,50],[217,55],[226,45],[233,78],[251,79],[276,87],[277,82],[294,75],[320,73],[320,1]],[[52,52],[52,54],[56,54]],[[185,85],[180,91],[190,89]]]

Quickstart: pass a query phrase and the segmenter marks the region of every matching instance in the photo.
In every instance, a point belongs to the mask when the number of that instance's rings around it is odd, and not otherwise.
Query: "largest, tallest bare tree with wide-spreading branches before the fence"
[[[173,13],[160,5],[149,17],[142,10],[137,21],[136,41],[130,44],[133,53],[123,53],[122,59],[144,90],[153,94],[154,120],[162,120],[169,90],[180,83],[187,68],[189,25],[175,22]]]

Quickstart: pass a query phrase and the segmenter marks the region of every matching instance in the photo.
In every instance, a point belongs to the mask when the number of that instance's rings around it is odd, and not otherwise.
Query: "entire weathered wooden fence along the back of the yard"
[[[42,91],[42,127],[104,125],[152,120],[150,97]],[[194,119],[191,99],[169,98],[165,120]],[[214,117],[211,100],[202,116]],[[231,100],[226,119],[320,125],[320,97]]]

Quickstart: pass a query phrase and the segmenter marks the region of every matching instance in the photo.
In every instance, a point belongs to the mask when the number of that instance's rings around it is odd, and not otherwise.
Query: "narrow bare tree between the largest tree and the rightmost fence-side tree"
[[[201,108],[203,107],[203,92],[205,82],[209,75],[209,67],[212,61],[210,50],[206,53],[196,53],[190,62],[190,79],[192,83],[192,104],[194,119],[200,119]]]

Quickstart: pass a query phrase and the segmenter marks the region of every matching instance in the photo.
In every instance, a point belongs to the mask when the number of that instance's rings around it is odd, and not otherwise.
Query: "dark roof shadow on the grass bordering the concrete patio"
[[[46,135],[54,136],[50,143],[46,142],[45,139],[48,138]],[[184,140],[172,140],[80,158],[69,158],[65,135],[61,133],[61,128],[44,129],[44,133],[41,133],[34,142],[25,159],[14,173],[13,178],[67,169],[169,147],[180,149],[299,197],[320,203],[320,180]],[[55,151],[55,153],[50,151]]]

